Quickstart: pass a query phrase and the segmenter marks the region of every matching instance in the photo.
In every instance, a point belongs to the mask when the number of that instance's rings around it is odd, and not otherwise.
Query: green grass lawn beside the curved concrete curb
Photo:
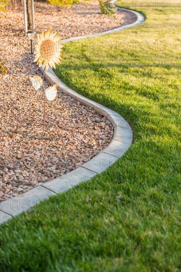
[[[105,173],[0,226],[0,271],[181,271],[180,2],[148,2],[145,23],[69,44],[56,69],[120,113],[133,145]]]

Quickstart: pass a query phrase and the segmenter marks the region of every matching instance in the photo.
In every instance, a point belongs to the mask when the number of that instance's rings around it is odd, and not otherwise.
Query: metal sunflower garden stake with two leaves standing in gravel
[[[55,63],[60,64],[61,59],[61,50],[63,47],[62,42],[60,41],[60,36],[56,32],[51,32],[51,30],[42,32],[38,36],[38,43],[36,44],[35,59],[34,62],[37,62],[39,67],[44,66],[44,72],[42,79],[39,76],[30,76],[30,81],[32,82],[33,87],[37,91],[41,86],[44,90],[44,126],[43,126],[43,136],[45,132],[45,108],[46,108],[46,98],[49,101],[53,101],[56,97],[56,87],[57,84],[54,84],[52,87],[49,87],[45,90],[44,88],[44,73],[45,69],[48,70],[48,67],[55,68]]]

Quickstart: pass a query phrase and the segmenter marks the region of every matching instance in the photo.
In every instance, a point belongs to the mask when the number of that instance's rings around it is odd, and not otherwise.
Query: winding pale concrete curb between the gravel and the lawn
[[[112,3],[116,2],[116,0],[112,1]],[[97,37],[105,34],[115,33],[144,22],[143,15],[133,10],[128,11],[136,14],[137,20],[135,23],[123,27],[118,27],[102,33],[73,37],[67,39],[66,41],[72,42],[90,37]],[[40,70],[43,72],[42,68]],[[121,158],[132,144],[132,129],[128,122],[117,112],[108,109],[68,88],[65,84],[63,84],[63,82],[58,79],[58,77],[54,74],[50,67],[48,71],[45,72],[45,79],[49,81],[51,85],[55,83],[58,84],[58,90],[62,91],[63,93],[69,94],[72,98],[76,99],[87,107],[92,107],[95,112],[99,113],[100,115],[104,115],[114,126],[114,137],[111,143],[105,149],[101,150],[101,152],[97,156],[92,158],[89,162],[84,163],[76,170],[73,170],[72,172],[60,178],[54,179],[52,181],[47,181],[41,186],[35,187],[32,190],[25,192],[19,196],[15,196],[11,199],[0,202],[0,224],[11,219],[13,216],[27,211],[27,209],[35,206],[40,201],[47,199],[49,196],[64,192],[79,184],[80,182],[88,181],[95,175],[104,172],[107,167],[117,161],[118,158]]]

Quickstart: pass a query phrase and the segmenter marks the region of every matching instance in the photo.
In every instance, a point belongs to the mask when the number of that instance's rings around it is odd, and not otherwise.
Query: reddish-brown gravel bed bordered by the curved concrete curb
[[[0,75],[0,200],[5,200],[89,161],[109,144],[113,127],[91,108],[58,93],[53,102],[47,102],[42,137],[43,92],[35,91],[28,78],[41,73],[29,53],[23,12],[10,10],[1,15],[0,58],[8,68],[6,75]],[[54,6],[36,3],[36,30],[51,28],[66,39],[136,20],[130,12],[116,16],[117,20],[101,16],[97,1],[59,12]]]

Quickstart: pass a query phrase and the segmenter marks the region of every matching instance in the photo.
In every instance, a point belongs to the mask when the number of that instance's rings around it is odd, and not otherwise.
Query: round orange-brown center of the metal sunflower
[[[43,58],[50,60],[55,54],[55,48],[56,46],[53,41],[47,39],[42,42],[40,46],[40,53]]]

